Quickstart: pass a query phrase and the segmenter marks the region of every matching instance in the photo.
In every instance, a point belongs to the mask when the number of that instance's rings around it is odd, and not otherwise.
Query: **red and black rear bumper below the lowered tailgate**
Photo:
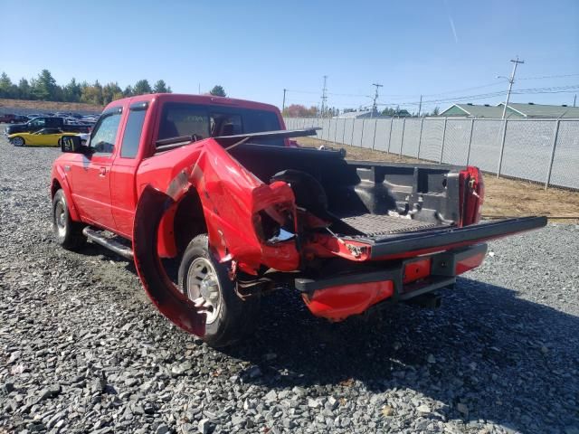
[[[386,300],[406,301],[455,283],[456,276],[478,267],[487,244],[398,260],[370,272],[308,279],[296,278],[295,287],[310,312],[333,321],[359,315]]]

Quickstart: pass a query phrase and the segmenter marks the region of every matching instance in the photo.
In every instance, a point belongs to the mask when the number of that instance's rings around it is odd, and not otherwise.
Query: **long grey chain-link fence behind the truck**
[[[285,118],[288,129],[399,156],[476,165],[495,175],[579,190],[579,119]]]

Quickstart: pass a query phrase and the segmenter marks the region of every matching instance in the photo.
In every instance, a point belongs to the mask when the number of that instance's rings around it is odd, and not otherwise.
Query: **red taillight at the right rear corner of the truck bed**
[[[485,197],[485,184],[478,167],[467,166],[460,171],[460,222],[459,226],[478,223]]]

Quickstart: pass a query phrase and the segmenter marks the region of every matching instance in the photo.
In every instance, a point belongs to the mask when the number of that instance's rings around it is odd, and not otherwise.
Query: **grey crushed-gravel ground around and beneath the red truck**
[[[0,137],[0,433],[579,433],[579,227],[492,242],[437,311],[331,325],[274,294],[216,351],[132,264],[52,241],[58,154]]]

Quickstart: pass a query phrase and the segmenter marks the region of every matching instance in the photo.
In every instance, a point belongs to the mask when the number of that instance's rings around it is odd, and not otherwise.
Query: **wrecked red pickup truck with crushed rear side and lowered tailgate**
[[[62,247],[132,259],[172,322],[215,346],[252,331],[262,295],[298,291],[315,316],[414,300],[482,262],[484,241],[546,224],[479,222],[476,167],[348,161],[295,146],[273,106],[153,94],[109,104],[83,145],[62,138],[52,217]],[[166,259],[179,261],[169,278]],[[484,296],[481,296],[484,297]]]

